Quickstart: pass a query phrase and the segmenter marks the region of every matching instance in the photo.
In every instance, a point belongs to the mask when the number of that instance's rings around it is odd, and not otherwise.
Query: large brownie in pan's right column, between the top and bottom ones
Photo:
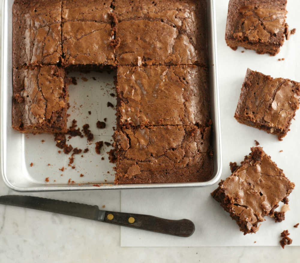
[[[119,66],[118,112],[121,125],[208,126],[207,70],[193,65]]]

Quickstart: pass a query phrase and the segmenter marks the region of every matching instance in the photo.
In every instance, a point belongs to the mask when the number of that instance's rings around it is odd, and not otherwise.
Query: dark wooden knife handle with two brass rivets
[[[169,220],[149,215],[111,211],[106,211],[104,222],[179,237],[189,237],[195,231],[194,223],[188,219]]]

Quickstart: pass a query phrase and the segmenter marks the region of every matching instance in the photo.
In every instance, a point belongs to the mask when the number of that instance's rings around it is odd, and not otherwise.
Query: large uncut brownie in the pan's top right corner
[[[114,11],[120,65],[207,64],[205,0],[121,0]]]

